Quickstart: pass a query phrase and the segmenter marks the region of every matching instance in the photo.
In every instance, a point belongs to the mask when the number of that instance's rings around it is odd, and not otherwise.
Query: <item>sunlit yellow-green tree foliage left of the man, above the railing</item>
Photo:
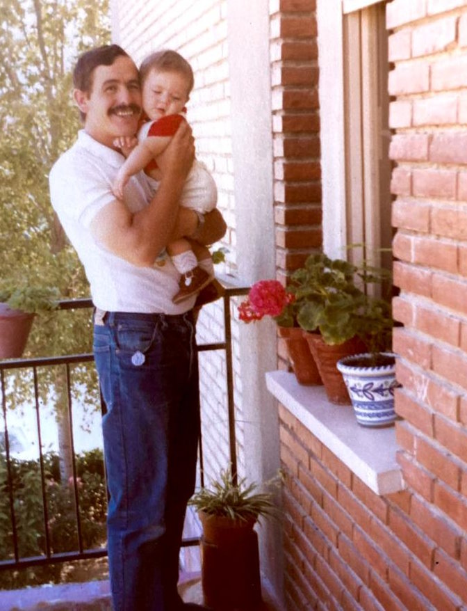
[[[80,127],[72,67],[82,51],[108,42],[108,3],[0,0],[0,15],[0,278],[54,286],[64,298],[88,296],[76,254],[69,245],[60,248],[48,176]],[[49,316],[35,324],[29,349],[35,355],[88,349],[83,319],[71,319]]]

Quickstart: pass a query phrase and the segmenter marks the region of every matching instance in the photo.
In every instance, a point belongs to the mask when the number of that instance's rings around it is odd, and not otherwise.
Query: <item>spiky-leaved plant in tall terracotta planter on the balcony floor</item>
[[[202,588],[209,608],[247,610],[261,603],[254,525],[277,516],[277,505],[272,493],[256,492],[257,487],[245,478],[237,482],[230,470],[224,470],[190,499],[203,528]]]

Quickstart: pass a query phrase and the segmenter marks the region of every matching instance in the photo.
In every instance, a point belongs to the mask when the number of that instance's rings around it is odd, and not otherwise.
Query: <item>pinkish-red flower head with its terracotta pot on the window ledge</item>
[[[288,358],[297,382],[321,384],[318,367],[297,322],[295,296],[279,280],[259,280],[249,289],[248,296],[238,306],[240,320],[255,322],[270,316],[277,323],[277,333],[286,344]]]

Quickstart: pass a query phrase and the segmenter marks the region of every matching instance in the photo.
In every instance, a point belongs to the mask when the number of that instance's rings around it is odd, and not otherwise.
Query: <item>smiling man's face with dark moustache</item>
[[[85,113],[85,132],[98,142],[113,147],[114,138],[136,134],[141,91],[131,58],[119,56],[112,65],[97,66],[90,93],[75,90],[74,97]]]

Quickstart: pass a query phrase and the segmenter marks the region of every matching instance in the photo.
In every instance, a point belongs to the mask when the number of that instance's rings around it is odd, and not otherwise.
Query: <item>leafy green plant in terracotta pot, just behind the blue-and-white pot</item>
[[[382,293],[391,286],[390,276],[386,269],[318,254],[291,277],[297,322],[333,403],[350,402],[338,360],[359,353],[372,363],[388,358],[382,353],[391,347],[393,318],[391,299]]]

